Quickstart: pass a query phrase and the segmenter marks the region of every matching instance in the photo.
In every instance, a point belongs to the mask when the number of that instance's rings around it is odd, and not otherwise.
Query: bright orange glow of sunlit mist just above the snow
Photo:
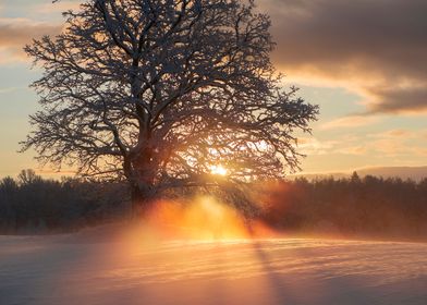
[[[276,235],[260,221],[248,222],[240,210],[205,195],[187,202],[157,202],[144,221],[131,229],[126,239],[135,248],[171,240],[210,242]]]

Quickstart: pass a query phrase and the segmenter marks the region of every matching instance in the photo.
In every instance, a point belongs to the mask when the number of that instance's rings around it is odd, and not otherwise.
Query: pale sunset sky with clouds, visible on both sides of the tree
[[[0,0],[0,176],[33,168],[17,154],[39,109],[28,85],[41,71],[22,48],[54,35],[78,1]],[[427,1],[257,0],[270,14],[272,61],[284,86],[319,105],[313,134],[297,134],[305,173],[427,166]]]

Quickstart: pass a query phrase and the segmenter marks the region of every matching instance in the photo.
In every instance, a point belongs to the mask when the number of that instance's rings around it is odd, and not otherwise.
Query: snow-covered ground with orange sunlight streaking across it
[[[108,232],[0,236],[0,304],[427,304],[427,244]]]

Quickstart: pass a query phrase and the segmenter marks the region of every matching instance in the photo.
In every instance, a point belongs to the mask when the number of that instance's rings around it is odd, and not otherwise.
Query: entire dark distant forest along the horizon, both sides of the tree
[[[427,240],[427,179],[354,173],[264,185],[257,193],[257,218],[285,233]],[[72,232],[129,215],[124,184],[46,180],[32,170],[0,180],[0,234]]]

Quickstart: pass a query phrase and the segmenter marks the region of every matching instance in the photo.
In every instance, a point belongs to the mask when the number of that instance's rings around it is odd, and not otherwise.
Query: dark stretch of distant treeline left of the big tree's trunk
[[[0,234],[72,232],[113,221],[129,209],[126,187],[23,170],[0,180]],[[127,200],[129,202],[129,200]]]

